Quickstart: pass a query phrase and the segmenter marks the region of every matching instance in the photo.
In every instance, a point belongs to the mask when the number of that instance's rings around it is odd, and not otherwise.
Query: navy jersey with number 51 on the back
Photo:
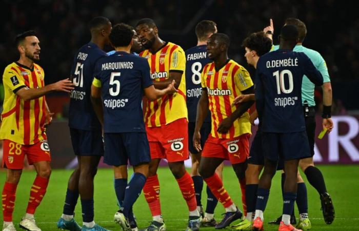
[[[96,114],[91,104],[91,84],[95,63],[106,52],[96,44],[88,43],[75,54],[71,68],[75,89],[70,93],[69,127],[82,130],[100,130]]]

